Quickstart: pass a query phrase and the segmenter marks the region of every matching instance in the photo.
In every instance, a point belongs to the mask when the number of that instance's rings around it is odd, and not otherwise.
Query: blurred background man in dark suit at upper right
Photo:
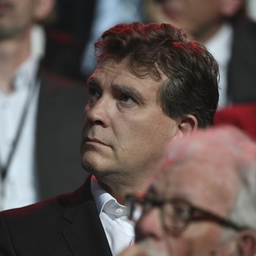
[[[256,102],[256,24],[243,16],[245,0],[146,0],[148,22],[180,27],[202,41],[220,66],[219,107]]]

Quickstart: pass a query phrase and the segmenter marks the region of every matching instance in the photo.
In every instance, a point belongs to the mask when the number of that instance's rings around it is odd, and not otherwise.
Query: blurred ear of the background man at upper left
[[[34,7],[34,19],[42,21],[48,17],[53,10],[55,0],[37,0]]]

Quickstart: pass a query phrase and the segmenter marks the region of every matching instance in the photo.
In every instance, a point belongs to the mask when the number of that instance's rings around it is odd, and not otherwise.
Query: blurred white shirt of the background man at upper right
[[[205,43],[205,46],[210,50],[219,64],[219,85],[221,90],[219,92],[218,108],[222,108],[230,103],[227,98],[227,75],[232,42],[233,28],[231,24],[224,23],[218,32]]]

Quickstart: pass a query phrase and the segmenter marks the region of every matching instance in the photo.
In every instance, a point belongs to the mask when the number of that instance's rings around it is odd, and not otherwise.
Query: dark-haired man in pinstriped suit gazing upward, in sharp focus
[[[218,64],[169,24],[119,24],[95,43],[82,165],[72,194],[0,214],[2,255],[118,255],[134,238],[126,194],[144,191],[166,141],[213,123]]]

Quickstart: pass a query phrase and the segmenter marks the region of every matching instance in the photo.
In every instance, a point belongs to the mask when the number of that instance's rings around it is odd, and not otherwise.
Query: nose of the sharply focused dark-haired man
[[[85,107],[85,118],[91,125],[101,125],[106,128],[110,124],[109,106],[107,99],[100,98],[95,104],[90,104]]]

